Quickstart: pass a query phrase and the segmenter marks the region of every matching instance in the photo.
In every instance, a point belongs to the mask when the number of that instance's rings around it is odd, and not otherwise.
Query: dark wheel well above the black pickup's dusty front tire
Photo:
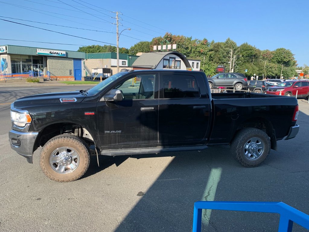
[[[87,144],[94,144],[92,136],[82,126],[74,123],[55,123],[40,131],[37,139],[37,147],[43,147],[48,140],[61,134],[76,135],[81,137]]]

